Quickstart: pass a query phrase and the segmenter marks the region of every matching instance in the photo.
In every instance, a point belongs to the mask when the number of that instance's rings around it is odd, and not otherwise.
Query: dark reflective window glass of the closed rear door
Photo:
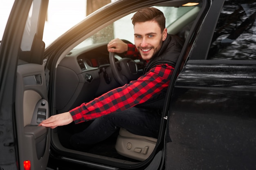
[[[256,60],[256,2],[226,0],[208,60]]]

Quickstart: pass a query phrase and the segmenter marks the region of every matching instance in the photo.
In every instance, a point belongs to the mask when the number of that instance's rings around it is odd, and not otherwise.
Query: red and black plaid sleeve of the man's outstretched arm
[[[70,110],[74,122],[77,124],[146,102],[168,88],[173,70],[168,64],[157,65],[137,80],[81,104]]]

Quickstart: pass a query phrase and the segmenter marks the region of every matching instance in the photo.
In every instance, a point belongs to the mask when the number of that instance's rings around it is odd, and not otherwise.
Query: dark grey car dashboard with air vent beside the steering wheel
[[[56,112],[63,113],[120,86],[112,74],[108,43],[73,49],[56,71]],[[115,55],[118,61],[124,54]]]

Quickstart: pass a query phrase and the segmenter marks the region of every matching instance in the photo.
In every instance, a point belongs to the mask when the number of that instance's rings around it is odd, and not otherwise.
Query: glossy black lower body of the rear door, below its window
[[[199,63],[187,64],[175,83],[169,168],[255,168],[256,66]]]

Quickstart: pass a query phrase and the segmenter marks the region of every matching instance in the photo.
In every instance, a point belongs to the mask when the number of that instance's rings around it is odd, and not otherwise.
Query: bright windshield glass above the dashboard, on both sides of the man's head
[[[166,18],[166,27],[171,25],[177,19],[179,19],[182,15],[187,13],[194,7],[159,7],[154,6],[155,8],[159,9],[164,13]],[[133,32],[133,25],[131,18],[134,13],[126,15],[125,17],[115,21],[113,24],[108,25],[101,31],[98,31],[90,38],[83,41],[81,44],[76,46],[74,49],[79,49],[84,46],[101,43],[101,42],[109,42],[114,38],[119,38],[123,40],[128,40],[129,42],[134,44],[134,32]]]

